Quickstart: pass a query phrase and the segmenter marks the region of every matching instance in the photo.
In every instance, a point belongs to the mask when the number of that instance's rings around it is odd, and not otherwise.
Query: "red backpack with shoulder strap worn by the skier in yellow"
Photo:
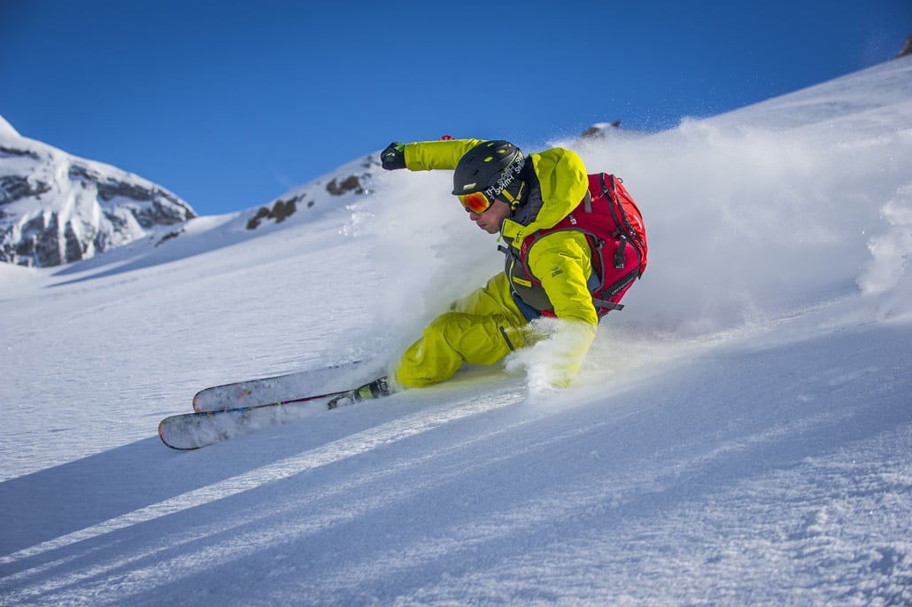
[[[526,259],[529,248],[542,236],[560,230],[583,232],[592,247],[589,288],[598,316],[623,309],[621,298],[646,270],[648,246],[643,215],[621,179],[608,173],[590,174],[589,191],[580,204],[554,227],[539,230],[523,241],[519,261],[527,277],[532,277]]]

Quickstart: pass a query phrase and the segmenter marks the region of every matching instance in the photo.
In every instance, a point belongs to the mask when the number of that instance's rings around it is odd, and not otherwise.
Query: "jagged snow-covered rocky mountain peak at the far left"
[[[0,261],[68,264],[195,216],[160,185],[22,137],[0,118]]]

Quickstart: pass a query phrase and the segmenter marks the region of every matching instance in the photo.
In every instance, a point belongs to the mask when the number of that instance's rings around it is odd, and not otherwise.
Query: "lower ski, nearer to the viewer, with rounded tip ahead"
[[[288,424],[308,415],[327,411],[330,406],[335,408],[355,402],[357,399],[354,391],[343,390],[275,403],[181,413],[161,420],[159,437],[162,443],[172,449],[199,449],[235,436]]]

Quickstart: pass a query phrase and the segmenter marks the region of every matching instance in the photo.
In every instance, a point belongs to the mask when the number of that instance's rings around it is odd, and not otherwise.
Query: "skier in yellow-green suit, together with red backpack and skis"
[[[564,387],[579,371],[598,319],[623,308],[621,298],[646,269],[646,229],[637,204],[615,175],[587,174],[575,152],[554,148],[526,156],[509,141],[476,139],[394,142],[381,162],[388,170],[453,171],[452,194],[469,218],[501,236],[503,272],[434,319],[389,377],[355,390],[272,403],[237,401],[272,393],[263,386],[295,374],[207,388],[193,398],[196,413],[161,421],[165,445],[198,449],[250,432],[275,421],[275,412],[290,403],[329,397],[333,409],[429,386],[451,378],[465,362],[493,364],[538,340],[544,340],[549,368],[537,380]],[[542,317],[554,318],[554,326],[531,324]],[[226,400],[234,406],[209,408]]]

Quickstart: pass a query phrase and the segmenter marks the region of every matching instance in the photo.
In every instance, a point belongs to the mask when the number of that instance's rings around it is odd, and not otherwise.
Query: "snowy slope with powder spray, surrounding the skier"
[[[207,385],[390,360],[496,272],[447,173],[0,267],[0,603],[909,604],[910,76],[568,142],[625,179],[650,265],[561,392],[526,351],[156,436]]]

